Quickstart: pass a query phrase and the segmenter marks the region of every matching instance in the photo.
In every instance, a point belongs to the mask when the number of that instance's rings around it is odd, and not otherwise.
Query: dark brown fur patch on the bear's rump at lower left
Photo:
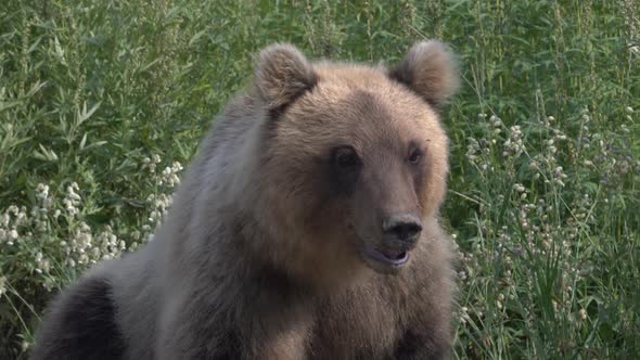
[[[121,359],[126,346],[114,316],[108,281],[80,282],[43,322],[31,359]]]

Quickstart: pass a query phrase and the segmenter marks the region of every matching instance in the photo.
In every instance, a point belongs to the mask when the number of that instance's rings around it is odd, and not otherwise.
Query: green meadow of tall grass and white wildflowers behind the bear
[[[396,62],[440,38],[459,359],[640,358],[640,1],[0,3],[0,359],[150,240],[255,53]]]

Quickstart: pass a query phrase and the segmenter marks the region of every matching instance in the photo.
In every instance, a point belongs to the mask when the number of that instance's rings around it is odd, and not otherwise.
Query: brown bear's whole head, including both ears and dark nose
[[[319,283],[411,262],[446,190],[448,139],[437,107],[453,92],[451,55],[420,42],[395,68],[260,54],[260,194],[252,204],[274,263]],[[428,229],[426,229],[428,230]]]

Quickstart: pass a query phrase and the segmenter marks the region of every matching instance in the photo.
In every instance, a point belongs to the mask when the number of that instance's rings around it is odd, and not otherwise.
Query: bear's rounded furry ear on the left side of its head
[[[293,102],[317,81],[313,67],[294,46],[276,43],[260,51],[255,82],[269,110]]]

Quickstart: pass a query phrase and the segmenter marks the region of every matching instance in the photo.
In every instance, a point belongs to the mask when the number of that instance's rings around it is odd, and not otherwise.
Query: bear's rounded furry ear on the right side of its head
[[[437,40],[420,41],[405,55],[389,77],[405,83],[433,106],[440,106],[458,88],[453,55]]]

